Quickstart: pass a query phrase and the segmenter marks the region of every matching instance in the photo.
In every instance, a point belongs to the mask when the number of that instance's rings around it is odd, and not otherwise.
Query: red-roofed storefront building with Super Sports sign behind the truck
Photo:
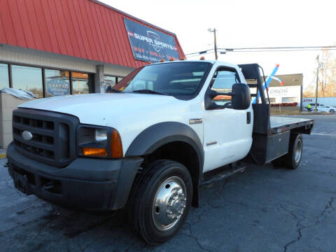
[[[184,56],[172,32],[96,0],[1,0],[0,90],[103,92],[149,61]]]

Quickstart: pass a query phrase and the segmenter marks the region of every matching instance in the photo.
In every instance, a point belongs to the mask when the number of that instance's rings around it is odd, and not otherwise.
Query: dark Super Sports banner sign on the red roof
[[[175,38],[155,29],[124,18],[128,38],[130,39],[134,59],[144,62],[168,61],[179,59]]]

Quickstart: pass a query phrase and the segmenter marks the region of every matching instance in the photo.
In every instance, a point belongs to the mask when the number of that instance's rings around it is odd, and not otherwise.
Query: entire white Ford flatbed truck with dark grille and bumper
[[[18,190],[64,207],[127,207],[134,232],[160,244],[198,206],[202,184],[246,162],[300,165],[300,134],[314,121],[281,122],[269,116],[258,64],[148,64],[111,93],[22,104],[8,169]]]

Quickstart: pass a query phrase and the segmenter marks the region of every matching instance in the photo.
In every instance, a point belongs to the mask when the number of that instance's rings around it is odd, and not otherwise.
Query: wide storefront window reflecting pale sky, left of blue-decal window
[[[27,90],[43,97],[42,69],[12,65],[13,88]]]

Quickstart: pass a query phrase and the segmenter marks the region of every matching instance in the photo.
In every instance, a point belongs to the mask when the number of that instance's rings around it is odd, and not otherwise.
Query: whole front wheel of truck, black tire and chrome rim
[[[179,162],[156,160],[134,181],[128,206],[130,226],[148,244],[162,244],[186,221],[192,198],[188,169]]]

